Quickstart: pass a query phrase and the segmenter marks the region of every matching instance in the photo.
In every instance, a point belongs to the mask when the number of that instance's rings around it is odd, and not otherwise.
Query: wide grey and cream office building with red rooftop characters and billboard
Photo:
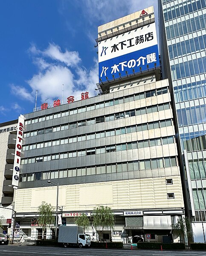
[[[68,95],[68,103],[57,100],[51,108],[43,103],[18,122],[23,140],[16,143],[12,184],[20,232],[41,238],[38,206],[56,203],[51,179],[59,184],[66,225],[83,212],[92,224],[97,205],[113,210],[114,230],[90,225],[92,239],[127,242],[151,234],[151,241],[171,241],[184,202],[172,88],[161,80],[153,7],[99,26],[96,43],[98,95],[82,93],[78,101]],[[46,238],[53,235],[48,228]]]

